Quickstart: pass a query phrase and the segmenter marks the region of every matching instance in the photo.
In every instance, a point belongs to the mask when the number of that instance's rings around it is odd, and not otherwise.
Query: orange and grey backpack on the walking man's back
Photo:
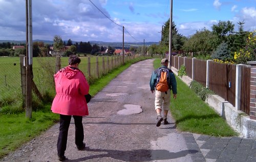
[[[159,68],[156,82],[156,89],[166,92],[169,88],[169,70],[166,68]]]

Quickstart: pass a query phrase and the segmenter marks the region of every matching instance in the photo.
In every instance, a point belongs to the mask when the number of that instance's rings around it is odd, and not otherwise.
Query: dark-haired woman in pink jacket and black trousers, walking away
[[[89,84],[78,69],[81,59],[76,55],[69,58],[69,66],[54,75],[56,96],[52,103],[52,112],[60,114],[59,136],[57,142],[58,159],[65,160],[68,130],[73,115],[75,121],[75,144],[78,150],[86,147],[83,143],[82,116],[89,115],[86,98]]]

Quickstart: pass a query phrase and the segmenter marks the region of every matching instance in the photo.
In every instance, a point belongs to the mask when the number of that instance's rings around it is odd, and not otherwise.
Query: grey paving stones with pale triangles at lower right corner
[[[183,136],[189,150],[199,151],[191,154],[193,161],[256,161],[256,140],[254,139],[192,133],[184,133]]]

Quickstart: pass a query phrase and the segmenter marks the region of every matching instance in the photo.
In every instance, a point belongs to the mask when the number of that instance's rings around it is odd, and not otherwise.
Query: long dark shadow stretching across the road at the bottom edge
[[[82,157],[78,159],[67,159],[65,161],[85,161],[94,158],[103,158],[103,157],[111,157],[118,160],[123,161],[149,161],[149,160],[167,160],[167,159],[175,159],[179,157],[184,157],[187,154],[197,153],[197,150],[183,150],[179,152],[169,152],[168,150],[131,150],[131,151],[120,151],[120,150],[106,150],[106,149],[91,149],[90,147],[86,147],[85,151],[91,152],[102,152],[102,154],[98,155],[90,155],[87,157]],[[159,155],[155,157],[155,159],[151,158],[151,154]]]

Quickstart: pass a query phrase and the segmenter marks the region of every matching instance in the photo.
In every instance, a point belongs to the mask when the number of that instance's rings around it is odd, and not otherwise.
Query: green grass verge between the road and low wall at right
[[[160,59],[155,59],[154,67],[159,67]],[[177,80],[177,99],[171,99],[170,111],[177,129],[212,136],[238,135],[226,121],[202,101],[182,80]]]

